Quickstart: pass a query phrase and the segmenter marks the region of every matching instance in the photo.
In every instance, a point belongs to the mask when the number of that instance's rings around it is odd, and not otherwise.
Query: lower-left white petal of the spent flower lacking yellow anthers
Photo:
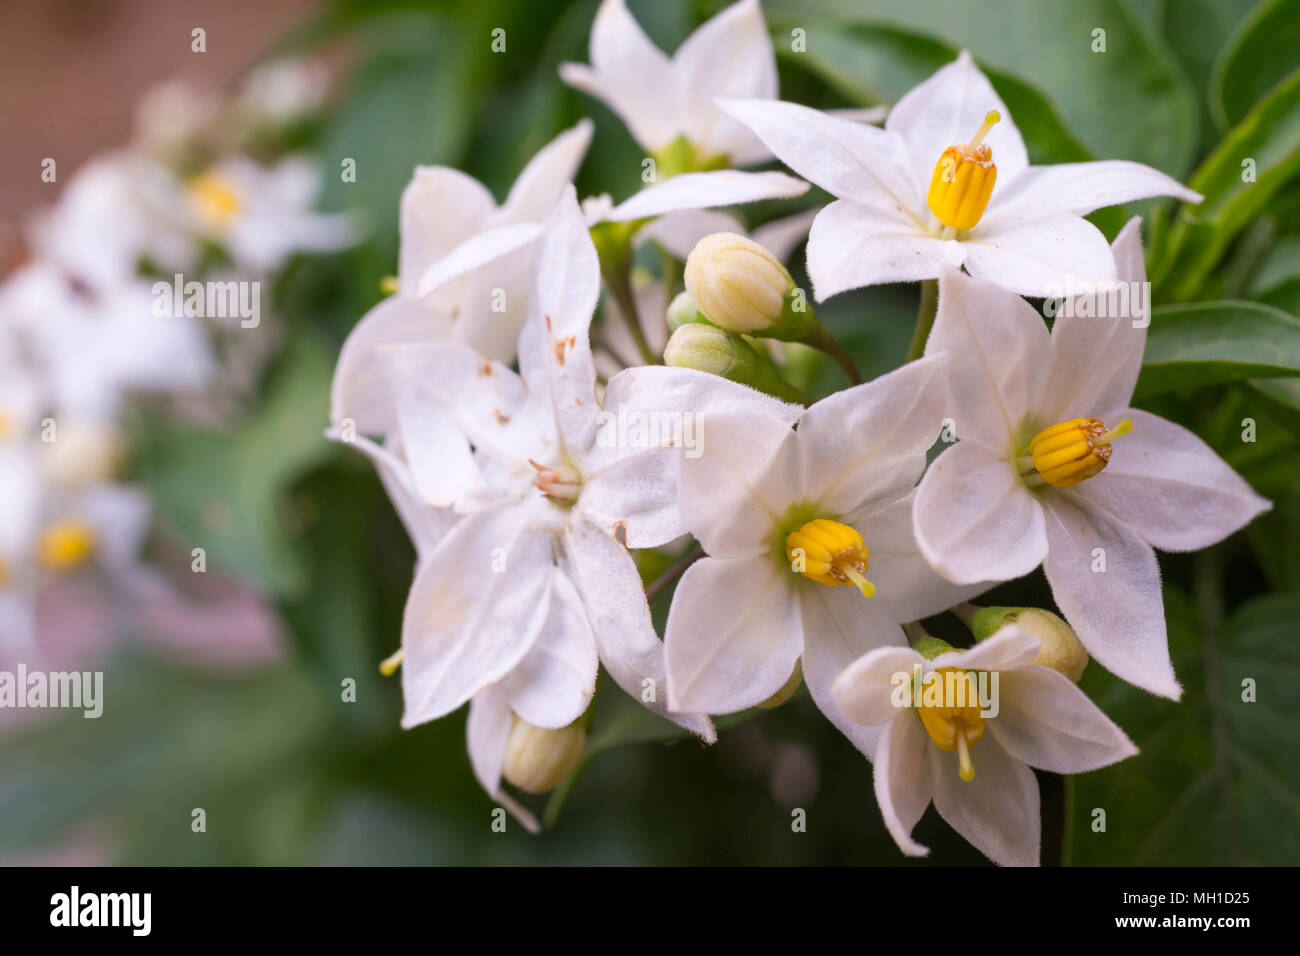
[[[554,574],[554,538],[529,529],[523,506],[471,514],[442,540],[403,614],[403,727],[451,713],[519,663],[546,620]]]

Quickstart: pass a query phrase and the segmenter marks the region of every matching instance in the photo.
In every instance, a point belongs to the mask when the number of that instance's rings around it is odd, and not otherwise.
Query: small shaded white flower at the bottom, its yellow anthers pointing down
[[[1037,639],[1009,624],[932,661],[906,646],[879,648],[836,679],[841,713],[878,728],[876,800],[904,853],[930,852],[911,829],[933,801],[993,862],[1036,866],[1039,786],[1030,767],[1078,774],[1138,753],[1069,678],[1035,665],[1037,653]]]

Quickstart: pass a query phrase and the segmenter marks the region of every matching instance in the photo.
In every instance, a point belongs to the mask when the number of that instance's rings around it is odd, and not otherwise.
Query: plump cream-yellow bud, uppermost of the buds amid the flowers
[[[716,325],[762,332],[785,311],[794,280],[767,248],[734,233],[714,233],[686,258],[686,291]]]

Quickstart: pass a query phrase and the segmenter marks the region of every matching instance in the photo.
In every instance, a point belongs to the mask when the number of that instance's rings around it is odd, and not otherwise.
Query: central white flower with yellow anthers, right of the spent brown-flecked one
[[[708,557],[682,575],[668,613],[670,708],[754,706],[802,657],[818,706],[871,753],[872,735],[842,719],[831,682],[862,653],[901,641],[901,622],[979,591],[948,587],[913,541],[913,490],[941,427],[941,369],[927,358],[840,392],[803,411],[797,431],[789,416],[701,406],[705,454],[682,462],[680,497]]]

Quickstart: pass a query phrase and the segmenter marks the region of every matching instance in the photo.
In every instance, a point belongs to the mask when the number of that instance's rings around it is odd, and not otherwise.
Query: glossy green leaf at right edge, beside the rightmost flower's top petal
[[[1300,375],[1300,320],[1254,302],[1199,302],[1152,313],[1136,395]]]

